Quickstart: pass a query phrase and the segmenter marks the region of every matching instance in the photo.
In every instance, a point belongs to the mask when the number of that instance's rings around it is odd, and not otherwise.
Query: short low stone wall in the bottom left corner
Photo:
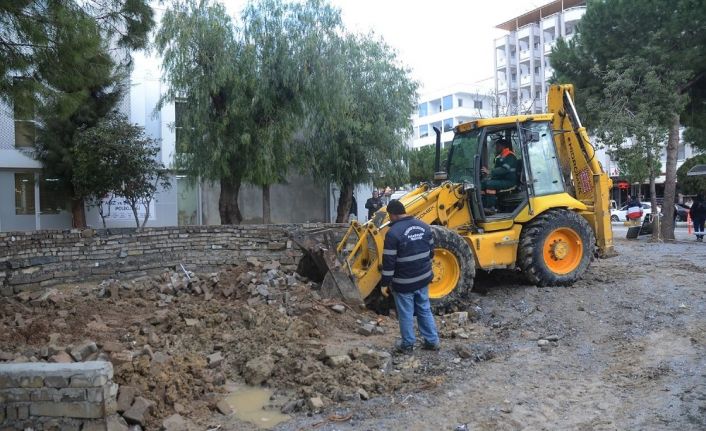
[[[0,429],[105,430],[117,392],[110,362],[2,364]]]

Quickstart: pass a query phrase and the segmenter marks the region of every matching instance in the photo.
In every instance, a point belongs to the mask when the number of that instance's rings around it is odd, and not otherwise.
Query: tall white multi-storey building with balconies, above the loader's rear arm
[[[586,12],[585,0],[555,0],[497,28],[495,91],[501,115],[546,111],[547,81],[554,70],[549,54],[560,37],[570,39]]]

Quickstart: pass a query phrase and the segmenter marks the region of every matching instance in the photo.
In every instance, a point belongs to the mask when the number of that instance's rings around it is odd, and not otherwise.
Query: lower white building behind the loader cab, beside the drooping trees
[[[441,142],[447,145],[453,139],[453,128],[478,118],[494,116],[493,90],[485,81],[475,84],[456,84],[431,91],[419,99],[417,113],[412,117],[414,133],[411,148],[420,148],[436,142],[434,127],[441,133]]]

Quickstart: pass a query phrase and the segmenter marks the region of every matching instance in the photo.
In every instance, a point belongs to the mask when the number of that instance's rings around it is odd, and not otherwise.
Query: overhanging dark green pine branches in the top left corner
[[[120,48],[113,57],[128,66],[129,50],[147,45],[152,14],[146,0],[1,2],[0,99],[17,96],[15,76],[31,77],[38,90],[46,90],[57,80],[90,73],[72,66],[92,58],[96,44]]]

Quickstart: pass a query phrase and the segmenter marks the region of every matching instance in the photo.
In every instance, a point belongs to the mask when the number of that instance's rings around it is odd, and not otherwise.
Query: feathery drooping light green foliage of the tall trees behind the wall
[[[236,31],[221,5],[180,1],[156,45],[170,82],[161,104],[188,106],[177,166],[220,180],[221,204],[240,181],[267,187],[291,168],[347,189],[406,180],[416,84],[382,41],[347,35],[327,3],[253,2]]]

